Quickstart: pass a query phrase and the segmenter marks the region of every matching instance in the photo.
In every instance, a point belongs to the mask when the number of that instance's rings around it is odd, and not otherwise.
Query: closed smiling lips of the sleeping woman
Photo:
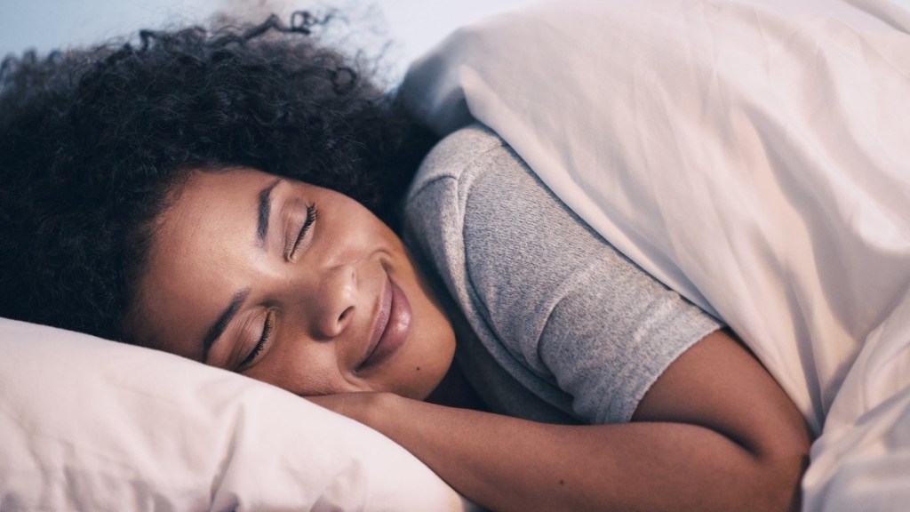
[[[389,279],[373,323],[366,356],[359,364],[358,371],[381,364],[405,343],[410,331],[412,314],[408,296],[398,284]]]

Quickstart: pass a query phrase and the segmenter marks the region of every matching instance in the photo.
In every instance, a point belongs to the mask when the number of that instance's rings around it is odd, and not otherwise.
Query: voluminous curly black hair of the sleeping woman
[[[433,142],[295,13],[142,31],[0,67],[0,316],[123,339],[154,220],[189,169],[252,167],[396,224]]]

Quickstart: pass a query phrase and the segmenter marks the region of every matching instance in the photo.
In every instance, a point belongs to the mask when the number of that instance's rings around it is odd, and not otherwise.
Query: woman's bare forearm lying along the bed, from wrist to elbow
[[[767,499],[789,505],[802,467],[802,454],[768,460],[694,425],[543,425],[397,396],[376,405],[365,423],[497,511],[774,510]]]

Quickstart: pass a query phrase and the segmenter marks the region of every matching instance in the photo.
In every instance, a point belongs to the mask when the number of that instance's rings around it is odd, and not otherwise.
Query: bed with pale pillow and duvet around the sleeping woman
[[[804,510],[910,499],[910,15],[885,0],[561,0],[460,29],[401,94],[497,131],[729,324],[817,435]],[[0,509],[474,510],[389,439],[167,353],[0,320]]]

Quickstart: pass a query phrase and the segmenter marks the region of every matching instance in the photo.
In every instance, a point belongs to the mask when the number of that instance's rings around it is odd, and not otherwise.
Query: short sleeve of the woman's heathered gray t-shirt
[[[486,153],[480,169],[463,230],[479,313],[514,361],[571,396],[572,415],[628,421],[718,323],[591,230],[511,148]]]

